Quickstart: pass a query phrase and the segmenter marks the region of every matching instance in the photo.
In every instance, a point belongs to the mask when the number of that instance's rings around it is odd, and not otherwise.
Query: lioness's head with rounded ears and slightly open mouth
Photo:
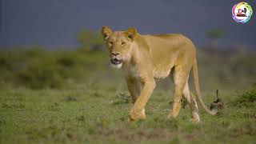
[[[136,34],[135,28],[129,28],[126,31],[112,31],[109,27],[102,26],[102,36],[106,42],[106,50],[110,54],[111,66],[121,68],[123,62],[130,61],[130,53]]]

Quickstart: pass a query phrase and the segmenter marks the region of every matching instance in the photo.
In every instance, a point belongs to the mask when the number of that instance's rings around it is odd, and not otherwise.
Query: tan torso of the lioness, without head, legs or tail
[[[142,42],[144,41],[144,42]],[[154,78],[166,78],[175,65],[192,66],[195,48],[190,39],[181,34],[138,35],[134,38],[139,54],[148,54],[146,58],[138,57],[138,61],[152,65]]]

